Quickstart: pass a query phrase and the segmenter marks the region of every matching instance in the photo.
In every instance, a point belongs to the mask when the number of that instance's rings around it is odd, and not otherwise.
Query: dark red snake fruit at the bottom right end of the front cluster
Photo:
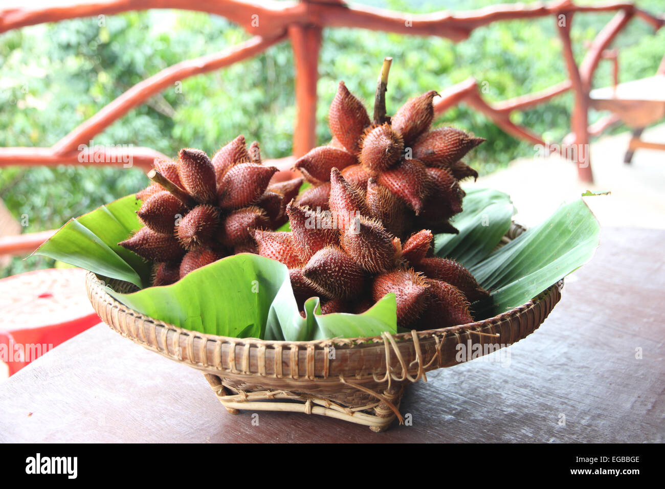
[[[430,329],[473,323],[469,302],[455,287],[440,280],[425,279],[428,287],[428,306],[422,322]]]

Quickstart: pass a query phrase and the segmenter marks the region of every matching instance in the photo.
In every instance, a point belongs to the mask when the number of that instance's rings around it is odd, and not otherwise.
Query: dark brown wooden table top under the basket
[[[663,442],[663,243],[662,230],[603,229],[593,260],[509,357],[410,387],[400,410],[411,426],[374,433],[316,415],[234,416],[201,373],[102,324],[0,384],[0,441]]]

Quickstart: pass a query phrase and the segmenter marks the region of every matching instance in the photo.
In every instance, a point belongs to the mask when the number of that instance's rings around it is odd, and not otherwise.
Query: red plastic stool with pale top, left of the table
[[[100,323],[85,275],[81,268],[51,268],[0,280],[0,361],[9,375]]]

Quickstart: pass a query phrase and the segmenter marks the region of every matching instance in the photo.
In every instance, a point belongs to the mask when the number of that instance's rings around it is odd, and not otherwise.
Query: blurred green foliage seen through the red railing
[[[490,5],[487,0],[454,0],[445,5],[406,0],[369,2],[379,7],[430,12]],[[638,1],[652,13],[660,0]],[[573,19],[575,55],[581,61],[591,41],[612,18],[578,14]],[[143,11],[73,19],[25,27],[0,35],[0,146],[50,146],[130,86],[179,61],[225,49],[249,36],[214,15],[189,11]],[[622,81],[653,75],[663,55],[665,29],[654,35],[633,19],[614,45]],[[319,80],[319,142],[330,139],[328,106],[337,82],[372,100],[383,57],[392,56],[388,112],[426,90],[442,90],[473,76],[486,100],[504,100],[547,88],[567,78],[555,19],[495,23],[476,29],[467,41],[410,37],[360,29],[326,29]],[[601,62],[594,84],[611,83],[610,63]],[[570,130],[572,96],[565,94],[523,114],[515,122],[560,141]],[[591,122],[599,114],[591,114]],[[213,153],[237,134],[258,140],[264,157],[291,154],[294,71],[289,43],[227,69],[186,79],[116,121],[94,138],[96,144],[148,146],[168,155],[183,147]],[[531,144],[508,136],[481,114],[458,106],[437,121],[487,138],[469,162],[485,174],[519,156],[533,156]],[[12,214],[28,216],[24,232],[58,228],[74,216],[136,192],[147,178],[134,168],[79,166],[7,167],[0,170],[0,198]],[[53,266],[52,261],[15,258],[0,276]]]

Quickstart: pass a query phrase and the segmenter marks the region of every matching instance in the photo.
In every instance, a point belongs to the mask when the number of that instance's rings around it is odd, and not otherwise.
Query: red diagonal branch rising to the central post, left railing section
[[[156,75],[138,82],[102,108],[102,110],[94,114],[94,116],[74,128],[72,132],[53,146],[53,150],[57,154],[64,154],[78,148],[79,144],[87,144],[92,137],[102,132],[104,128],[110,126],[110,124],[118,120],[118,118],[129,112],[132,108],[142,104],[145,100],[148,100],[148,98],[165,88],[173,86],[175,82],[257,55],[281,41],[284,37],[284,35],[281,35],[271,39],[263,39],[262,37],[255,36],[221,53],[182,61],[177,65],[165,68]]]

